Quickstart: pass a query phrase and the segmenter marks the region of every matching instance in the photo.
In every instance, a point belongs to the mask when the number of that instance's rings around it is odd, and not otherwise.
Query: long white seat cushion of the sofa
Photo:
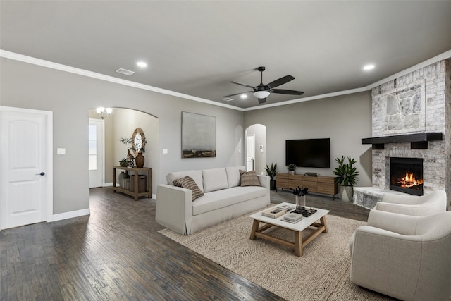
[[[208,192],[192,202],[192,215],[203,214],[265,195],[266,188],[259,186],[237,186]]]

